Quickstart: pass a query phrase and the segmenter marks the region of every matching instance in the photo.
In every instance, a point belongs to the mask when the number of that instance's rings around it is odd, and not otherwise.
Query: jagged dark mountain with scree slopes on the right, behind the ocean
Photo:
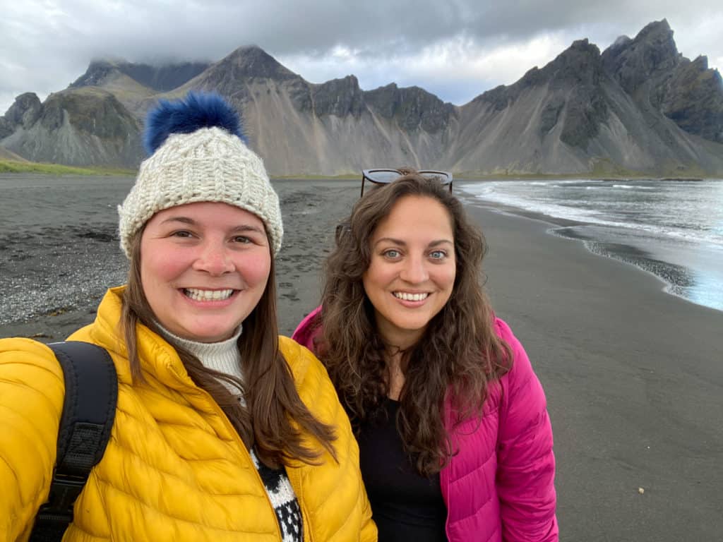
[[[514,85],[462,106],[462,152],[450,156],[449,167],[496,162],[509,172],[720,172],[716,130],[723,119],[711,120],[711,113],[723,113],[723,85],[718,72],[707,70],[677,86],[690,64],[677,53],[666,21],[633,40],[618,39],[602,54],[588,40],[576,41]]]

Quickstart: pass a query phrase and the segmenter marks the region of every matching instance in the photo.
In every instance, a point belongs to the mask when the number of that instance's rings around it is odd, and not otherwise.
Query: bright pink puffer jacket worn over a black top
[[[314,350],[312,311],[292,338]],[[557,542],[555,457],[542,385],[508,324],[497,335],[512,348],[510,371],[489,390],[482,419],[453,428],[459,453],[440,472],[450,542]],[[445,424],[455,413],[445,408]],[[372,510],[373,514],[374,510]]]

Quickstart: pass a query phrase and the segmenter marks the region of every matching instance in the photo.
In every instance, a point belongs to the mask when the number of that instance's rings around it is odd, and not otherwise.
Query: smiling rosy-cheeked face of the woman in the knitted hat
[[[157,212],[140,254],[143,293],[158,323],[202,343],[234,335],[264,293],[271,267],[262,220],[226,203]]]

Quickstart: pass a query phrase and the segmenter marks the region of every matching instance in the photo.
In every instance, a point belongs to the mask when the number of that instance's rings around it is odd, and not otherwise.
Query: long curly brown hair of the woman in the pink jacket
[[[492,309],[479,282],[487,249],[484,236],[448,189],[411,173],[356,202],[326,262],[318,353],[357,431],[362,423],[383,416],[388,393],[385,344],[362,277],[371,262],[377,225],[407,196],[440,202],[454,233],[456,276],[450,299],[402,358],[405,383],[397,426],[417,470],[431,475],[456,452],[453,428],[445,427],[443,419],[445,400],[452,401],[458,413],[453,423],[481,414],[490,382],[512,361],[510,347],[495,334]]]

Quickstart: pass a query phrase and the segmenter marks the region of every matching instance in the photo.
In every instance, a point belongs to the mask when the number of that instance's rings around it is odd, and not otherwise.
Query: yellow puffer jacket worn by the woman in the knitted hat
[[[116,419],[103,460],[74,507],[64,542],[278,541],[278,521],[244,444],[221,408],[189,378],[175,350],[139,327],[144,384],[131,382],[117,332],[121,288],[74,333],[110,351],[119,379]],[[336,427],[335,463],[286,468],[304,518],[304,541],[375,541],[359,473],[359,449],[319,361],[280,337],[301,400]],[[52,351],[33,340],[0,340],[0,541],[25,541],[45,502],[64,397]]]

